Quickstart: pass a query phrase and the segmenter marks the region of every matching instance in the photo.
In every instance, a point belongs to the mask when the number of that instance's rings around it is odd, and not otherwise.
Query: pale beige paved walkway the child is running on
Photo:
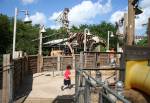
[[[24,97],[24,103],[64,103],[60,99],[72,99],[75,93],[75,87],[61,90],[63,85],[63,76],[61,73],[55,73],[58,76],[52,76],[51,72],[36,73],[26,78],[25,87],[31,88],[30,93]],[[72,71],[72,84],[75,84],[74,73]],[[32,80],[33,77],[33,80]],[[22,99],[16,101],[19,103]],[[70,100],[71,101],[71,100]],[[72,103],[72,102],[67,102]]]

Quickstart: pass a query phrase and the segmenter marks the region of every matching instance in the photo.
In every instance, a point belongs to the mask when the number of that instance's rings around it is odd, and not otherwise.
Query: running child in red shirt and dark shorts
[[[66,71],[64,73],[64,86],[61,87],[61,90],[64,90],[65,88],[69,88],[71,85],[71,72],[70,72],[71,66],[68,65],[66,68]]]

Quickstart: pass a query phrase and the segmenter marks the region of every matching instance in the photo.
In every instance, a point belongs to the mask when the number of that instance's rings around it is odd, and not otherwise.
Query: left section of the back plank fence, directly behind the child
[[[75,69],[75,64],[80,63],[80,55],[73,56],[44,56],[41,71],[63,71],[67,65]]]

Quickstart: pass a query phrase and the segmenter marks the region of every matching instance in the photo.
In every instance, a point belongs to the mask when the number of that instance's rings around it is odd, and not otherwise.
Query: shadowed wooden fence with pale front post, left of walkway
[[[15,60],[10,54],[3,55],[2,77],[2,103],[13,103],[17,89],[21,86],[28,72],[27,57]]]

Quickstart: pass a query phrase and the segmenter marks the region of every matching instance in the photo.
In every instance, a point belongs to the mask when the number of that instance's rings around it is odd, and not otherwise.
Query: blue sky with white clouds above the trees
[[[136,35],[144,35],[150,17],[150,1],[139,0],[143,13],[135,19]],[[19,10],[28,10],[32,24],[41,24],[50,28],[59,28],[56,18],[69,8],[70,26],[80,24],[99,24],[102,21],[115,23],[128,10],[128,0],[0,0],[0,13],[14,16],[15,7]],[[23,19],[24,14],[19,12],[17,18]]]

